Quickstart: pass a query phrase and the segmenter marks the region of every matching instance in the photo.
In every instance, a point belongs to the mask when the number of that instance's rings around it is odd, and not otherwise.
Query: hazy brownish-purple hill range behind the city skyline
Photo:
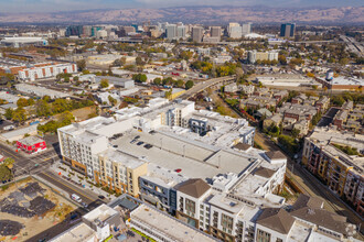
[[[0,23],[131,23],[142,21],[185,23],[364,23],[364,7],[268,8],[268,7],[178,7],[163,9],[83,10],[52,13],[0,12]]]

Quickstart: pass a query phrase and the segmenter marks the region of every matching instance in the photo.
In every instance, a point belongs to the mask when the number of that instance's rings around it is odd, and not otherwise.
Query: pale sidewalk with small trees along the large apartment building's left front
[[[50,167],[50,170],[54,172],[55,174],[61,173],[61,175],[58,175],[60,177],[73,183],[76,186],[79,186],[81,188],[83,188],[85,190],[89,189],[89,190],[94,191],[97,195],[104,196],[108,200],[116,199],[115,195],[108,194],[107,191],[103,190],[101,187],[96,187],[95,185],[89,184],[89,183],[94,184],[94,182],[90,178],[86,179],[86,177],[83,174],[77,173],[76,170],[72,169],[69,166],[66,166],[66,165],[63,165],[63,164],[56,162]],[[74,175],[72,175],[72,173]]]

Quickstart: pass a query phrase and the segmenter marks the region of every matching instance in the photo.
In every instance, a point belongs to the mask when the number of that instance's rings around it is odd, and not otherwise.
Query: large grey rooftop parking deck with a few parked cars
[[[130,143],[138,135],[138,141]],[[138,145],[138,142],[143,144]],[[204,180],[218,174],[239,174],[257,160],[233,150],[222,150],[158,131],[150,134],[132,130],[111,143],[122,147],[124,152],[142,157],[157,166],[169,170],[181,169],[180,174],[184,177]],[[146,144],[153,146],[148,150],[143,146]]]

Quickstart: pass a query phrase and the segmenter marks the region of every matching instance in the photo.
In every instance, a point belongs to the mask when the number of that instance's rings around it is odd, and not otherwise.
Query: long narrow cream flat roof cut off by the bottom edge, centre
[[[131,212],[131,220],[141,222],[173,241],[216,241],[182,221],[146,205],[141,205]]]

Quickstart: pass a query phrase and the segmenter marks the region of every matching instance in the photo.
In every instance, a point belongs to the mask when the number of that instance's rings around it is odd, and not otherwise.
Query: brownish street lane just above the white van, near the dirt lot
[[[92,195],[90,193],[86,194],[85,190],[82,190],[82,188],[78,188],[71,183],[56,177],[56,175],[53,175],[50,172],[40,173],[40,174],[38,174],[38,176],[50,182],[51,184],[55,185],[56,187],[60,187],[62,190],[68,193],[69,198],[71,198],[72,194],[76,194],[87,205],[98,200],[98,197],[96,195]]]

